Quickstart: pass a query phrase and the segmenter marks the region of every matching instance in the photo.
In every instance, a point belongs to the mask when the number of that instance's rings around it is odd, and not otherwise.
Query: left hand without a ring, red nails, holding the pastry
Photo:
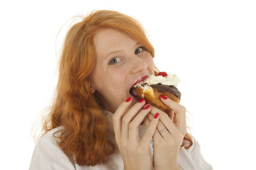
[[[132,101],[127,98],[112,119],[114,124],[115,140],[119,152],[124,161],[124,169],[146,169],[151,170],[151,156],[149,150],[149,142],[156,131],[156,125],[159,117],[152,118],[148,124],[148,128],[142,137],[139,138],[139,125],[142,123],[146,115],[149,114],[151,108],[142,109],[145,101],[142,100],[129,109]]]

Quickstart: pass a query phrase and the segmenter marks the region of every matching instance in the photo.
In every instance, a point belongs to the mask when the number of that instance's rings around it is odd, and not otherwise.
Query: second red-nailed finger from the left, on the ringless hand
[[[124,118],[122,118],[121,135],[122,137],[127,138],[126,140],[128,140],[129,138],[129,124],[131,123],[135,115],[137,115],[137,113],[142,109],[144,104],[145,104],[145,100],[142,99],[138,103],[134,104],[134,106],[132,106],[132,108],[130,108],[129,111],[127,111],[127,113],[124,115]]]

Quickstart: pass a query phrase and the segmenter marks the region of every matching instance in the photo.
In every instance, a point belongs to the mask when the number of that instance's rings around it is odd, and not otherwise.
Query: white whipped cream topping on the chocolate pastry
[[[175,74],[168,74],[167,77],[162,76],[154,76],[151,75],[148,79],[141,81],[134,85],[134,87],[142,86],[142,84],[148,84],[149,86],[152,84],[163,84],[166,86],[177,86],[181,80]]]

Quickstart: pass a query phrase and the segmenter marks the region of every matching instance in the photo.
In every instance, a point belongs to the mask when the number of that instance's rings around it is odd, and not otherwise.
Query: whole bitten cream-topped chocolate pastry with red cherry
[[[132,86],[130,94],[135,98],[144,98],[145,101],[161,111],[170,110],[161,101],[161,95],[171,98],[177,103],[181,100],[181,92],[176,88],[180,80],[175,74],[166,74],[159,72],[158,76],[142,77],[137,84]]]

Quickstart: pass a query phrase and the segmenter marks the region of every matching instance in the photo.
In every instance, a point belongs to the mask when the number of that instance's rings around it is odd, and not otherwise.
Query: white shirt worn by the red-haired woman
[[[107,118],[110,125],[110,131],[114,132],[112,128],[112,113],[107,112]],[[62,149],[58,146],[58,139],[53,137],[53,134],[63,127],[58,127],[50,130],[40,140],[38,140],[36,147],[33,151],[31,165],[29,170],[119,170],[124,169],[121,154],[119,154],[118,148],[114,154],[110,156],[109,161],[106,164],[99,164],[96,166],[80,166],[75,162],[70,161],[64,154]],[[142,136],[146,128],[144,126],[139,127],[139,136]],[[55,134],[55,135],[58,135]],[[114,133],[110,136],[114,140]],[[153,155],[153,141],[150,143],[151,156]],[[199,143],[193,138],[193,145],[186,150],[181,147],[178,152],[178,166],[182,170],[212,170],[212,166],[208,164],[201,155],[201,149]]]

